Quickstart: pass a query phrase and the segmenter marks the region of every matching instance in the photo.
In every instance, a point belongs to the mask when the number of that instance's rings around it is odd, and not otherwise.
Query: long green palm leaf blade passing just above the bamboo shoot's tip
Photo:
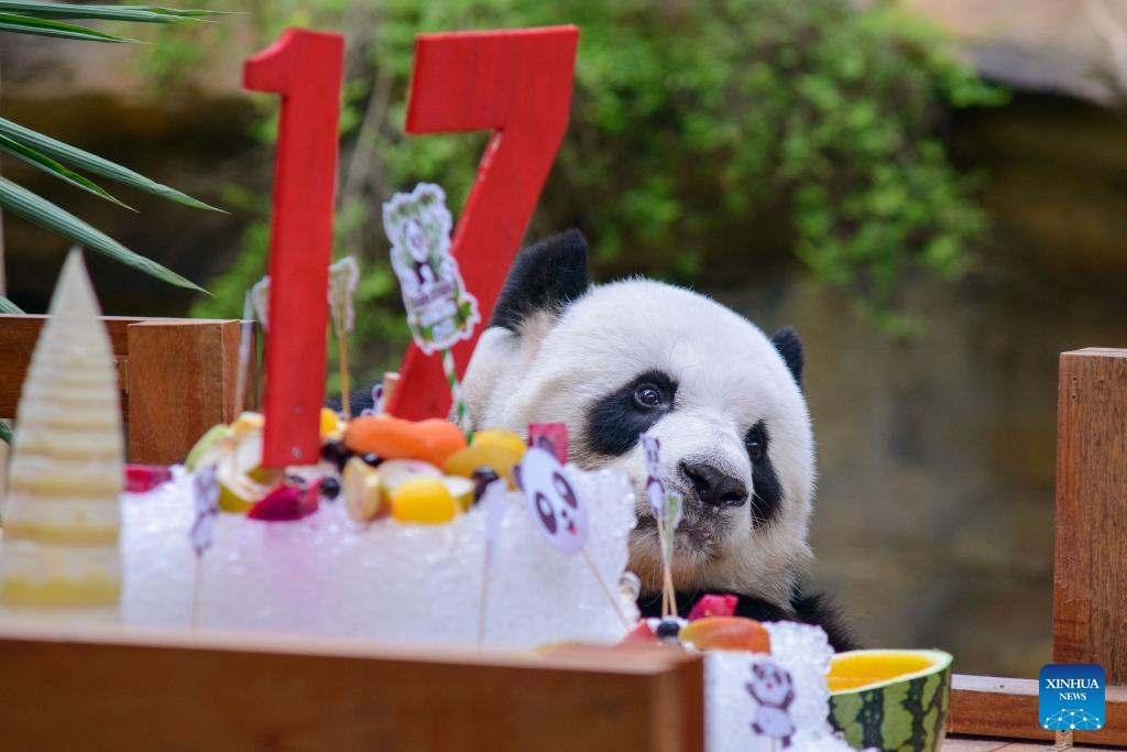
[[[12,214],[18,214],[39,227],[57,232],[64,238],[80,242],[91,250],[105,254],[126,266],[132,266],[158,280],[175,284],[178,287],[207,292],[176,272],[133,253],[105,232],[96,230],[70,212],[52,204],[46,198],[36,196],[27,188],[5,177],[0,177],[0,209],[6,209]]]

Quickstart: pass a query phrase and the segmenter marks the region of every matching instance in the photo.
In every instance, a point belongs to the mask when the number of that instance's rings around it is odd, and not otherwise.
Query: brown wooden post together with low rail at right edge
[[[1106,726],[1061,741],[1127,746],[1127,350],[1061,355],[1053,656],[1107,673]],[[1037,725],[1037,681],[955,676],[949,725],[1057,740]]]

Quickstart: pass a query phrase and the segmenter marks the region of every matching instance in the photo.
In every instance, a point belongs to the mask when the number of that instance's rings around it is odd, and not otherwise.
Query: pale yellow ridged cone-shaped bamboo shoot
[[[0,605],[116,607],[124,439],[109,336],[71,251],[16,415],[0,538]]]

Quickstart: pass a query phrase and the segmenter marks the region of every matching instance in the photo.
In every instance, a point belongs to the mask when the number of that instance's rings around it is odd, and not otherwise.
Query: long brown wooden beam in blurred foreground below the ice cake
[[[2,750],[702,750],[680,651],[520,657],[0,628]]]

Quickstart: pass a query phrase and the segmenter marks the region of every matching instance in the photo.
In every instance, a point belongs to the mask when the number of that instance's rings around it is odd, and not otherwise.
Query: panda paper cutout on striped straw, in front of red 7
[[[383,205],[391,266],[399,277],[411,337],[427,355],[473,335],[481,320],[478,301],[465,290],[450,255],[453,220],[442,188],[420,183]]]

